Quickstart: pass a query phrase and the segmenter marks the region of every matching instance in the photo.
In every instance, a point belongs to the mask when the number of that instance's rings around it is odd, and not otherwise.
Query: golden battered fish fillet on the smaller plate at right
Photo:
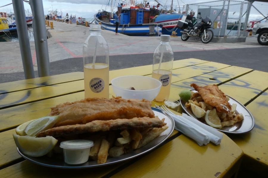
[[[229,113],[231,111],[231,105],[227,101],[226,95],[219,90],[217,85],[206,85],[204,87],[200,87],[195,83],[192,83],[191,87],[194,87],[194,89],[198,91],[206,104],[216,107],[217,111],[225,113]]]

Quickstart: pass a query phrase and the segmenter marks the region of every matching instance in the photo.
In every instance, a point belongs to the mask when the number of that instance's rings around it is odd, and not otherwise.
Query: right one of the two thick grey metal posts
[[[46,24],[44,20],[43,2],[30,0],[33,15],[33,31],[39,77],[49,76],[49,53],[47,46]]]

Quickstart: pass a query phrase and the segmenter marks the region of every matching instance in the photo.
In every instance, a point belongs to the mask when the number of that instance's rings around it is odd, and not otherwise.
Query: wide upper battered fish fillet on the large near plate
[[[58,115],[54,127],[62,125],[85,124],[93,120],[131,119],[133,117],[155,117],[151,102],[142,99],[85,98],[66,102],[51,108],[51,116]]]

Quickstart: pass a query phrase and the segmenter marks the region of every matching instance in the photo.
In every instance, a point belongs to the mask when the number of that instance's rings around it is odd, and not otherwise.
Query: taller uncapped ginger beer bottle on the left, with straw
[[[100,25],[90,25],[83,47],[85,98],[109,98],[109,48]]]

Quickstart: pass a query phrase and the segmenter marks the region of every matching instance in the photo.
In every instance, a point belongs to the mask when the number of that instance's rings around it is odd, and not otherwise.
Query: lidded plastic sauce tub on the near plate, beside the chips
[[[82,164],[88,161],[91,140],[68,140],[60,143],[63,148],[64,162],[67,164]]]

